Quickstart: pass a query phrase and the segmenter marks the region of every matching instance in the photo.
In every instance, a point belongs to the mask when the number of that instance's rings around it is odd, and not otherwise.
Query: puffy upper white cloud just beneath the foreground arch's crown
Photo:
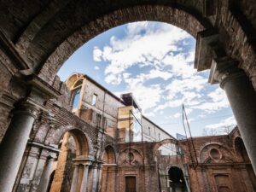
[[[119,76],[134,65],[145,67],[160,64],[165,61],[164,58],[170,51],[177,51],[178,41],[189,37],[187,32],[163,23],[155,24],[148,21],[130,23],[126,27],[125,38],[119,39],[113,36],[109,45],[103,49],[97,47],[94,49],[94,60],[108,62],[105,69],[107,83],[116,84],[117,81],[109,78],[109,75]],[[189,56],[184,56],[182,61],[189,61]],[[170,73],[160,70],[153,71],[151,75],[153,74],[163,79],[172,77]]]

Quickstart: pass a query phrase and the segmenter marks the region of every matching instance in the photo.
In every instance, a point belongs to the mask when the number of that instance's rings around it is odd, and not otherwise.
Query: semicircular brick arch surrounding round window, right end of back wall
[[[217,160],[212,159],[211,150],[217,149],[220,153],[220,158]],[[199,160],[201,163],[212,163],[212,162],[233,162],[234,161],[234,154],[227,148],[224,143],[218,142],[211,142],[205,143],[199,150]]]

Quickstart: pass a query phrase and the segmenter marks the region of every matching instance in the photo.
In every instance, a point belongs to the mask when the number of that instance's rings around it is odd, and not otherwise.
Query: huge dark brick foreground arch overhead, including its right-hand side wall
[[[255,20],[250,14],[255,6],[252,5],[248,11],[249,3],[244,1],[213,1],[210,5],[215,10],[209,17],[207,2],[212,1],[17,1],[15,7],[18,9],[3,12],[1,29],[7,40],[15,45],[26,62],[25,66],[33,68],[33,72],[39,73],[50,84],[58,68],[75,49],[113,26],[139,20],[158,20],[181,27],[194,37],[197,32],[211,30],[214,26],[222,33],[227,54],[241,61],[241,68],[247,71],[256,87],[253,76]],[[5,2],[2,6],[9,9],[14,5]],[[19,15],[21,8],[24,14]]]

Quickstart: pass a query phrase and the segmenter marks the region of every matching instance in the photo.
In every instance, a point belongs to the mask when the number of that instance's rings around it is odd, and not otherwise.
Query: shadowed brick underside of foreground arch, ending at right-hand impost
[[[210,22],[202,16],[202,0],[161,0],[157,3],[147,0],[127,0],[121,3],[67,0],[40,3],[41,7],[35,10],[27,7],[26,3],[15,3],[27,9],[31,15],[19,15],[20,23],[15,25],[7,12],[1,30],[15,44],[28,66],[49,84],[63,62],[76,49],[115,26],[154,20],[180,27],[193,37],[196,37],[197,32],[212,28]],[[17,10],[12,11],[15,14]]]

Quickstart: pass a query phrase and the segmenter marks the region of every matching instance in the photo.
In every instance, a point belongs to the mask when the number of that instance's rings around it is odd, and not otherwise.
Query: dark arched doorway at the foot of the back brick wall
[[[183,171],[177,166],[172,166],[169,170],[170,191],[171,192],[187,192]]]

